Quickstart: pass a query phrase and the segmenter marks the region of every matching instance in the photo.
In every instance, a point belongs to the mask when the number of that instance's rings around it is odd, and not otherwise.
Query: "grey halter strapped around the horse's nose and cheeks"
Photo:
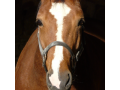
[[[72,63],[72,69],[75,70],[75,67],[76,67],[76,62],[79,60],[79,55],[81,56],[83,50],[84,50],[84,47],[83,47],[83,43],[81,42],[81,46],[80,46],[80,49],[79,51],[77,52],[76,55],[74,55],[74,53],[72,52],[71,48],[64,42],[60,42],[60,41],[54,41],[52,43],[50,43],[45,49],[42,48],[42,45],[41,45],[41,42],[40,42],[40,37],[39,37],[39,26],[38,26],[38,33],[37,33],[37,37],[38,37],[38,44],[39,44],[39,50],[40,50],[40,53],[42,55],[42,59],[43,59],[43,67],[45,69],[45,71],[47,72],[47,67],[46,67],[46,56],[47,56],[47,52],[48,50],[53,47],[53,46],[63,46],[65,47],[71,54],[71,63]],[[75,61],[75,62],[74,62]]]

